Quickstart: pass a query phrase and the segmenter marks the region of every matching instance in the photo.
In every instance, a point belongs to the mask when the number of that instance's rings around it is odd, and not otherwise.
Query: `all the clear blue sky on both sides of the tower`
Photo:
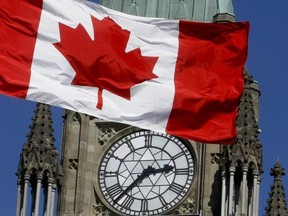
[[[288,1],[234,0],[238,21],[249,21],[249,54],[247,68],[260,84],[260,135],[263,144],[264,173],[261,182],[260,214],[264,214],[273,178],[270,168],[276,160],[288,169]],[[0,215],[15,215],[17,198],[17,164],[22,145],[29,132],[35,103],[0,96],[1,184]],[[62,110],[52,108],[55,144],[60,149]],[[286,194],[287,177],[283,177]]]

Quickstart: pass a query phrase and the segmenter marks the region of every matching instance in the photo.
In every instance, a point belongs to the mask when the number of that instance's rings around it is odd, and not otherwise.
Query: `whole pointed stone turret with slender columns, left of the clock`
[[[50,106],[37,104],[34,113],[16,173],[18,176],[16,216],[54,215],[54,198],[59,174],[61,175],[58,151],[54,146]],[[40,206],[40,203],[44,206]]]

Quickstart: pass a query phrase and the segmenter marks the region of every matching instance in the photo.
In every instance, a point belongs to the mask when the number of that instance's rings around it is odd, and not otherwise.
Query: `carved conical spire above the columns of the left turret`
[[[53,121],[50,106],[37,104],[34,110],[27,142],[23,145],[17,175],[40,172],[57,178],[58,151],[54,146]]]

